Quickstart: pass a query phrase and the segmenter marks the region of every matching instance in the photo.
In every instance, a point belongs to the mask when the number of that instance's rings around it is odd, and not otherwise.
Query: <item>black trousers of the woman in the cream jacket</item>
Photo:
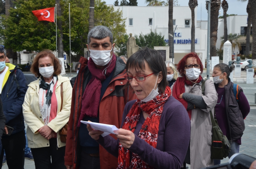
[[[66,146],[58,147],[57,150],[57,138],[51,138],[49,142],[49,147],[31,148],[36,169],[66,169],[64,165]]]

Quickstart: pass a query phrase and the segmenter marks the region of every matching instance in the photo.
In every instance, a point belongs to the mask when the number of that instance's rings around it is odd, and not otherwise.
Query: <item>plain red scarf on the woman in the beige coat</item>
[[[177,99],[178,101],[180,101],[182,103],[182,105],[187,109],[188,102],[185,101],[184,99],[180,99],[179,95],[181,95],[182,93],[185,93],[185,83],[189,86],[192,86],[195,83],[200,83],[201,80],[202,80],[201,75],[199,75],[198,80],[191,80],[192,82],[189,81],[188,79],[186,79],[186,76],[178,77],[178,79],[176,80],[176,82],[174,83],[173,88],[172,88],[172,96],[175,99]],[[187,110],[187,111],[188,111],[188,116],[191,119],[192,110]]]

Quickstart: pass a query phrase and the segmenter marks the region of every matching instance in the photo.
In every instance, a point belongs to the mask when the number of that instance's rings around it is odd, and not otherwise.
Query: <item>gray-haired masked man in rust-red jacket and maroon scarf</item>
[[[81,65],[73,87],[65,165],[67,169],[117,168],[117,158],[99,146],[80,121],[120,128],[124,106],[136,99],[136,95],[132,88],[123,89],[127,83],[124,78],[126,65],[114,55],[115,44],[110,29],[95,26],[88,34],[87,43],[90,58],[80,58]]]

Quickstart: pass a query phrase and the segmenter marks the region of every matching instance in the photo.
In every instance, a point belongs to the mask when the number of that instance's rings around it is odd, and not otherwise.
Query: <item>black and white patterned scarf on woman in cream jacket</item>
[[[53,87],[57,83],[57,80],[58,76],[56,75],[53,76],[50,83],[45,82],[43,76],[39,79],[39,106],[44,125],[47,125],[50,120],[52,93],[54,92]]]

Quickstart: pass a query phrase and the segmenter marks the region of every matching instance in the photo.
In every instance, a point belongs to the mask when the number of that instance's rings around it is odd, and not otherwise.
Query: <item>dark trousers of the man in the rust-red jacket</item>
[[[99,157],[92,157],[82,151],[79,169],[101,169]]]

